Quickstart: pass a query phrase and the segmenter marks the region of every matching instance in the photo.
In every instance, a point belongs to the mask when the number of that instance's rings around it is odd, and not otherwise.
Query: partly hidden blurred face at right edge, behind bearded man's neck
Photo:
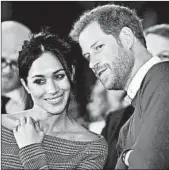
[[[163,61],[169,60],[169,39],[155,34],[148,34],[146,43],[147,49],[152,55],[159,56]]]

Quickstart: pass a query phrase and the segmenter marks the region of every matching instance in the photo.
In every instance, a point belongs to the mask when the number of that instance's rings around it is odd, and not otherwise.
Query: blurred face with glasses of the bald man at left
[[[1,56],[1,83],[2,93],[10,92],[21,86],[20,79],[16,73],[18,53],[12,47],[2,48]],[[11,64],[8,64],[11,63]]]

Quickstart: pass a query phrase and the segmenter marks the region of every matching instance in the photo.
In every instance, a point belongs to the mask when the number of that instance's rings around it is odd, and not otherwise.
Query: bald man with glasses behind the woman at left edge
[[[26,93],[17,74],[17,58],[30,29],[16,21],[2,22],[1,56],[1,113],[15,113],[25,109]]]

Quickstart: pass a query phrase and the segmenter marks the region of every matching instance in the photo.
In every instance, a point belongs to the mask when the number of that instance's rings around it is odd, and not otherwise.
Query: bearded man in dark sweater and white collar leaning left
[[[99,6],[70,33],[109,90],[125,90],[135,110],[121,128],[116,169],[169,168],[169,62],[146,49],[141,20],[129,8]]]

